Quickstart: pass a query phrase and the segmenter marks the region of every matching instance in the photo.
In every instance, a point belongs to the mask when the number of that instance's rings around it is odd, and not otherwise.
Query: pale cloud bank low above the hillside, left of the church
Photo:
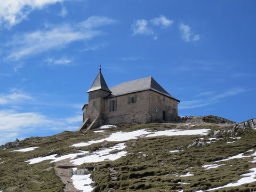
[[[81,116],[68,118],[52,118],[40,113],[19,113],[15,110],[0,110],[0,145],[7,141],[22,139],[27,133],[35,134],[46,130],[70,130],[78,129],[77,123],[82,123]]]

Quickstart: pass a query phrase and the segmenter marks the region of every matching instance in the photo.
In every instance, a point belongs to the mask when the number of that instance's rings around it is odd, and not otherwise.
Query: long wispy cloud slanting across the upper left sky
[[[51,26],[50,29],[14,35],[12,40],[5,44],[5,46],[11,47],[7,59],[18,60],[46,50],[60,49],[72,42],[92,39],[101,34],[100,30],[93,30],[93,27],[109,25],[114,22],[106,17],[93,16],[78,25]]]

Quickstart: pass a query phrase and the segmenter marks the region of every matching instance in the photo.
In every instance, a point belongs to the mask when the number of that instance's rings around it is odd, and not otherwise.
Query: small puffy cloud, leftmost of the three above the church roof
[[[133,35],[153,35],[154,31],[147,25],[148,22],[145,19],[135,21],[132,24]]]

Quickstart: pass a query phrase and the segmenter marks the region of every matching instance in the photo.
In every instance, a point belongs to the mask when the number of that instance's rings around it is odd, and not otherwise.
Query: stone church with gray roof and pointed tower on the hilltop
[[[170,122],[178,120],[178,99],[146,77],[108,87],[101,69],[83,106],[83,124],[78,130],[106,124]]]

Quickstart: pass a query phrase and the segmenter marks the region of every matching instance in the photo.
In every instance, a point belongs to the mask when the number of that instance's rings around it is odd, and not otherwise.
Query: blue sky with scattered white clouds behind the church
[[[180,116],[255,118],[255,1],[0,0],[0,144],[75,131],[102,66],[153,76]]]

